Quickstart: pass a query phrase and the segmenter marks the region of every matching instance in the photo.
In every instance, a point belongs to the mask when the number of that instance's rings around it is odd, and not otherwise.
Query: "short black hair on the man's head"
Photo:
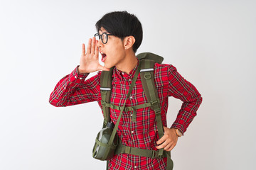
[[[122,40],[129,35],[134,36],[135,42],[132,46],[134,52],[137,52],[137,49],[142,44],[142,23],[139,22],[137,16],[127,11],[106,13],[105,16],[102,16],[102,18],[97,21],[95,26],[97,32],[100,31],[100,28],[104,28],[108,33]]]

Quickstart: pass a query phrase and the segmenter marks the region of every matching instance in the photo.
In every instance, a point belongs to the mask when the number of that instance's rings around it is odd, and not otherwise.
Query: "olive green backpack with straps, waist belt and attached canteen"
[[[97,153],[95,152],[96,147],[105,147],[102,152],[104,157],[100,157],[100,160],[109,160],[111,159],[114,154],[121,154],[121,153],[126,153],[126,154],[133,154],[141,157],[151,157],[154,159],[161,159],[163,157],[168,157],[167,158],[167,166],[166,169],[171,170],[173,169],[173,162],[171,160],[171,152],[166,152],[164,149],[159,149],[159,150],[149,150],[149,149],[140,149],[140,148],[135,148],[135,147],[127,147],[122,145],[122,142],[119,140],[118,145],[114,143],[114,139],[116,138],[117,134],[117,128],[119,125],[119,120],[122,117],[122,112],[123,111],[133,111],[132,114],[132,121],[136,121],[136,110],[139,108],[146,108],[150,107],[151,109],[154,110],[156,113],[156,125],[157,125],[157,130],[159,133],[159,139],[164,135],[164,128],[163,128],[163,123],[161,121],[161,108],[160,108],[160,103],[159,103],[159,96],[156,93],[156,87],[154,84],[154,64],[155,62],[158,62],[161,64],[161,62],[164,60],[163,57],[159,55],[155,55],[150,52],[144,52],[139,55],[137,55],[137,58],[140,60],[139,62],[139,67],[137,68],[136,73],[134,74],[134,79],[132,80],[132,84],[130,86],[129,94],[132,92],[132,88],[135,84],[135,81],[137,79],[137,76],[140,72],[141,75],[141,80],[142,80],[142,86],[144,89],[144,93],[146,95],[146,100],[147,102],[141,105],[137,106],[132,106],[132,107],[125,107],[125,103],[127,98],[124,101],[124,106],[115,106],[114,104],[110,103],[110,96],[111,96],[111,91],[112,91],[112,74],[113,74],[113,68],[110,69],[110,71],[102,71],[101,77],[100,77],[100,93],[102,97],[102,111],[104,115],[104,122],[103,122],[103,128],[106,128],[108,123],[110,123],[110,108],[117,109],[120,111],[119,113],[119,118],[117,119],[116,125],[114,125],[114,130],[112,130],[112,134],[110,136],[110,140],[108,143],[102,143],[100,142],[98,136],[96,138],[95,146],[92,151],[93,157],[97,158]],[[108,155],[109,152],[111,152],[112,155]],[[107,161],[108,165],[108,161]],[[108,166],[107,166],[108,169]]]

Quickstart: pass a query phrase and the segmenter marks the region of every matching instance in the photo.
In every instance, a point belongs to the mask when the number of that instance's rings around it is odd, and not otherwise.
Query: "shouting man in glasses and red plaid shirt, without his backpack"
[[[80,65],[71,74],[60,79],[50,94],[53,106],[72,106],[80,103],[97,101],[101,104],[100,75],[86,79],[90,72],[113,69],[111,103],[123,106],[129,85],[137,70],[139,60],[135,52],[142,43],[142,25],[138,18],[127,11],[107,13],[96,23],[97,34],[90,39],[85,52],[82,44]],[[98,62],[99,52],[104,67]],[[176,67],[169,64],[154,64],[154,81],[161,105],[161,119],[164,136],[159,139],[156,116],[151,108],[137,109],[136,121],[132,121],[132,111],[124,111],[117,135],[122,145],[142,149],[162,149],[171,151],[176,146],[178,137],[183,135],[196,116],[201,104],[201,94],[196,88],[178,74]],[[181,110],[171,128],[166,125],[168,97],[183,101]],[[135,106],[146,101],[141,78],[138,77],[132,94],[125,106]],[[119,111],[110,108],[110,117],[115,124]],[[166,169],[167,158],[154,159],[133,154],[116,154],[108,164],[109,169]]]

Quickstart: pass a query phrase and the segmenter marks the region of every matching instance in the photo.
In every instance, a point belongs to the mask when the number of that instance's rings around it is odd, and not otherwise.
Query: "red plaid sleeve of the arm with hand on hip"
[[[202,103],[202,97],[196,87],[181,77],[176,67],[172,65],[168,71],[168,80],[169,96],[174,96],[183,101],[181,109],[178,111],[177,118],[173,125],[171,125],[171,128],[176,128],[183,134],[196,116],[196,111]]]

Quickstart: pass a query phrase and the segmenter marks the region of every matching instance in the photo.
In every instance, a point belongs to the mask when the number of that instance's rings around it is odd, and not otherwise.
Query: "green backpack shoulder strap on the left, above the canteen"
[[[110,103],[110,96],[112,91],[112,74],[113,68],[110,71],[102,71],[100,75],[100,94],[102,97],[102,111],[104,115],[103,127],[110,122],[110,108],[107,107],[107,104]]]

